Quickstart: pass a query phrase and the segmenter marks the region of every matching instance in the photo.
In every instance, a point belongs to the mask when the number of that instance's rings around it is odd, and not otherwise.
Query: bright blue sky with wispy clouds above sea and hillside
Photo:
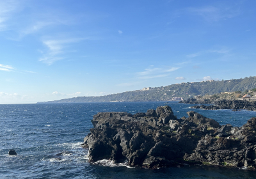
[[[0,1],[0,104],[255,76],[256,1]]]

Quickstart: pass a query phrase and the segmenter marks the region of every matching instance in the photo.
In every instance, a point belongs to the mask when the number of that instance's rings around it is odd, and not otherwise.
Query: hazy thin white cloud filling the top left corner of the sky
[[[33,33],[42,35],[45,34],[46,27],[72,26],[81,23],[82,18],[84,20],[84,17],[76,13],[70,14],[61,8],[41,8],[29,1],[0,1],[0,31],[8,31],[5,35],[8,40],[19,41]],[[28,7],[29,11],[26,10]]]

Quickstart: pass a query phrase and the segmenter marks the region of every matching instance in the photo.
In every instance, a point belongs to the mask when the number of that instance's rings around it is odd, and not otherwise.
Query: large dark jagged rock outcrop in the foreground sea
[[[220,125],[190,111],[178,119],[168,105],[147,113],[98,113],[84,138],[89,162],[127,161],[156,169],[182,164],[256,167],[256,118],[243,127]]]

